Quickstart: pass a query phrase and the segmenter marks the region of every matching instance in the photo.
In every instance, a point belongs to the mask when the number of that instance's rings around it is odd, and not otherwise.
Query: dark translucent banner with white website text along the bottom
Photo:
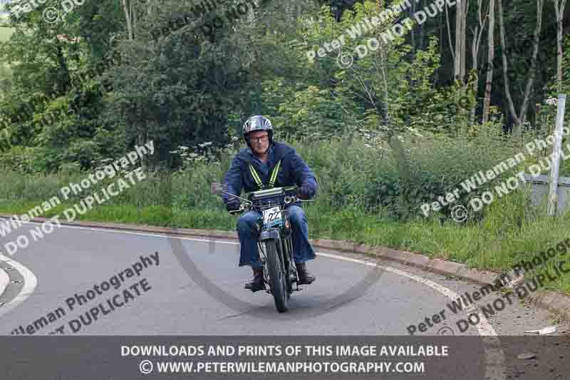
[[[564,379],[568,337],[1,337],[2,379]]]

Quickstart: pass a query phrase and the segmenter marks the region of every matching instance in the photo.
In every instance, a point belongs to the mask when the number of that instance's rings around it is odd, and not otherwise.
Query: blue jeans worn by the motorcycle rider
[[[293,258],[295,262],[306,262],[314,260],[315,251],[309,243],[309,225],[304,210],[291,205],[287,209],[289,212],[289,222],[293,230]],[[237,235],[239,236],[239,267],[251,265],[252,268],[260,268],[263,265],[259,260],[256,220],[261,217],[259,212],[249,210],[237,220]]]

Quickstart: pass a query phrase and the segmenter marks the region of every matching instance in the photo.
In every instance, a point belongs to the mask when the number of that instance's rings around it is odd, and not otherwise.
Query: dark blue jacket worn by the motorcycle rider
[[[279,168],[274,187],[307,186],[311,189],[310,197],[314,197],[318,186],[313,170],[296,153],[294,148],[276,142],[269,148],[269,160],[266,165],[261,164],[261,161],[254,156],[250,148],[239,150],[239,153],[232,160],[232,165],[224,175],[224,190],[239,196],[241,196],[242,190],[244,192],[259,190],[252,173],[249,171],[249,163],[253,165],[261,181],[267,185],[269,176],[279,160],[281,160],[281,168]],[[229,195],[222,193],[224,202],[227,202],[228,198],[230,198]]]

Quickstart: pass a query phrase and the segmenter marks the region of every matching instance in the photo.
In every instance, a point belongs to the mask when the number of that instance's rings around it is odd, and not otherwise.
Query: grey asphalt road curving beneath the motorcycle
[[[2,238],[1,246],[24,232],[29,237],[27,231],[36,226],[20,227]],[[23,282],[10,284],[0,297],[0,302],[5,302],[0,307],[0,332],[22,334],[24,330],[28,334],[26,329],[32,325],[29,331],[36,335],[407,335],[408,327],[414,324],[415,335],[527,335],[524,330],[552,324],[547,312],[514,299],[514,304],[507,304],[489,322],[482,319],[460,332],[457,321],[466,319],[467,313],[452,313],[447,306],[449,297],[473,292],[480,285],[392,262],[371,261],[361,255],[324,251],[308,264],[317,276],[316,282],[293,293],[289,312],[278,313],[270,294],[243,288],[251,271],[237,267],[238,247],[234,241],[214,243],[138,232],[56,228],[11,257],[2,250],[4,257],[17,264],[8,271],[11,279]],[[158,265],[151,255],[158,258]],[[147,257],[145,263],[140,261],[141,256]],[[133,265],[135,269],[140,266],[139,275],[128,277],[135,271],[128,273],[126,269]],[[8,267],[9,262],[0,262],[0,266]],[[117,289],[109,284],[110,289],[99,289],[101,294],[94,290],[87,294],[94,285],[109,282],[113,276],[119,280],[119,274],[124,281]],[[33,289],[22,290],[34,281],[37,284]],[[123,292],[125,289],[129,294]],[[95,297],[80,305],[79,294]],[[501,294],[487,297],[490,302]],[[103,307],[96,320],[89,318],[93,312],[80,319],[99,304]],[[433,315],[442,310],[445,320],[440,317],[435,323]],[[42,317],[48,323],[38,322],[33,327]],[[425,324],[425,332],[420,332],[420,323],[426,317],[433,326]],[[77,322],[71,322],[73,319]],[[558,328],[557,334],[566,332],[565,324]]]

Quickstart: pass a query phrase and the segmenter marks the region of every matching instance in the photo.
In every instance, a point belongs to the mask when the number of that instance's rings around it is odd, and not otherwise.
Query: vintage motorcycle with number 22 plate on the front
[[[244,211],[259,213],[259,259],[263,264],[265,291],[273,295],[279,312],[289,310],[291,293],[302,290],[299,274],[293,258],[293,239],[289,222],[288,207],[301,200],[296,196],[296,187],[271,188],[249,193],[249,199],[238,197],[223,190],[219,183],[212,183],[212,193],[225,193],[241,200],[239,210],[230,215],[241,215]]]

